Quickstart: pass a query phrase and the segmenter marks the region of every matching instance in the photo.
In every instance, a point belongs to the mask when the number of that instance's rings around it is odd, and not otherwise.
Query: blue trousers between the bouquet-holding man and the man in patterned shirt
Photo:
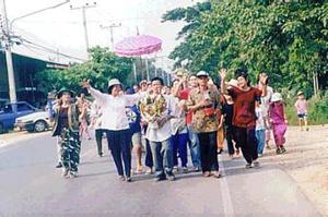
[[[171,137],[173,144],[173,165],[178,166],[178,156],[181,159],[181,166],[187,167],[188,154],[187,143],[188,133],[175,134]]]

